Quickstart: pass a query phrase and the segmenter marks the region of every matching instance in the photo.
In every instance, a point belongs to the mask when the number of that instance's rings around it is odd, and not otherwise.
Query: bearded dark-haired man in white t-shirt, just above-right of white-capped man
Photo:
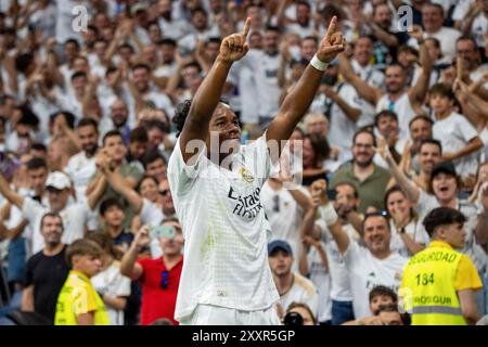
[[[99,130],[97,120],[93,118],[82,118],[76,129],[81,152],[69,158],[64,171],[73,181],[77,200],[84,201],[87,185],[97,171],[95,153],[99,149]]]

